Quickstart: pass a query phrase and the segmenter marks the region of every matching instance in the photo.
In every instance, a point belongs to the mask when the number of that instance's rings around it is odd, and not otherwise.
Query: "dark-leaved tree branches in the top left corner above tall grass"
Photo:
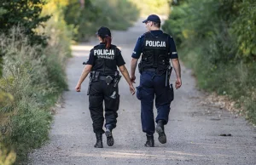
[[[44,0],[28,0],[28,1],[9,1],[2,0],[0,3],[0,33],[8,34],[9,29],[13,26],[21,26],[24,28],[30,43],[32,44],[47,44],[46,37],[38,35],[34,29],[49,19],[49,15],[40,17]]]

